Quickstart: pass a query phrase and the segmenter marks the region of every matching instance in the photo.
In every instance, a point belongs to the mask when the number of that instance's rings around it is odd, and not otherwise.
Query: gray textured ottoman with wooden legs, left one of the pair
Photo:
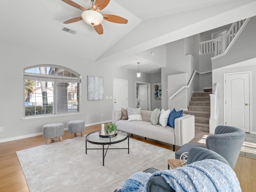
[[[60,138],[63,141],[62,135],[64,135],[64,124],[63,123],[51,123],[43,126],[43,136],[47,139],[46,145],[50,144],[50,139]]]

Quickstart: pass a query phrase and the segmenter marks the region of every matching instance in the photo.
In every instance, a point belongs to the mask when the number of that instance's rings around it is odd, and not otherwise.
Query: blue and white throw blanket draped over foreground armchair
[[[177,192],[241,192],[236,173],[218,160],[202,160],[173,170],[137,172],[123,182],[122,192],[147,192],[148,179],[162,176]]]

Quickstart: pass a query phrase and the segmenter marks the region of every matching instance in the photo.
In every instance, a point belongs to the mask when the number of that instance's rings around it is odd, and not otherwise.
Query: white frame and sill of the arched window
[[[66,72],[70,72],[70,76],[65,76],[65,74],[63,73],[63,76],[59,76],[59,75],[52,75],[52,74],[38,74],[36,73],[36,68],[40,68],[40,67],[47,67],[47,68],[58,68],[60,70],[64,70]],[[26,72],[27,70],[33,69],[35,68],[35,72]],[[76,76],[76,77],[74,77]],[[63,67],[63,66],[58,66],[58,65],[50,65],[50,64],[41,64],[41,65],[35,65],[35,66],[30,66],[27,68],[24,68],[24,72],[23,72],[23,88],[24,88],[24,92],[23,92],[23,101],[25,101],[25,84],[26,84],[26,80],[32,80],[32,81],[46,81],[46,82],[54,82],[54,84],[56,83],[77,83],[78,84],[78,97],[77,97],[77,101],[78,101],[78,106],[77,106],[77,111],[75,112],[64,112],[64,113],[56,113],[54,112],[53,114],[40,114],[40,115],[30,115],[30,116],[26,116],[26,106],[24,105],[23,102],[23,118],[22,120],[27,120],[27,119],[35,119],[35,118],[49,118],[49,117],[57,117],[57,116],[70,116],[70,115],[76,115],[76,114],[82,114],[80,112],[80,97],[81,97],[81,78],[80,78],[80,74],[78,74],[77,72],[75,72],[74,70],[71,70],[69,68]],[[54,88],[54,92],[53,92],[53,108],[54,110],[56,109],[56,88]]]

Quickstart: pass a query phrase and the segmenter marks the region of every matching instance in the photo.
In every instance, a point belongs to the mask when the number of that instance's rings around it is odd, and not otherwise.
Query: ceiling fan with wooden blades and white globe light
[[[94,26],[94,29],[100,35],[100,34],[103,34],[103,27],[101,25],[103,20],[114,22],[114,23],[120,23],[120,24],[127,24],[128,22],[127,19],[122,18],[120,16],[100,13],[100,11],[108,5],[110,0],[96,0],[95,3],[94,3],[94,0],[91,0],[92,6],[87,10],[71,0],[62,0],[62,1],[83,11],[80,17],[67,20],[63,22],[64,24],[69,24],[69,23],[74,23],[74,22],[84,20],[84,22],[86,22],[87,24]]]

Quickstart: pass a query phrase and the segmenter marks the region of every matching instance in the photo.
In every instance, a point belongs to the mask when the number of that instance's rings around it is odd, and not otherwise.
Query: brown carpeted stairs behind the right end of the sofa
[[[212,88],[204,89],[204,92],[193,92],[188,110],[184,114],[195,116],[195,130],[209,133],[210,96]]]

